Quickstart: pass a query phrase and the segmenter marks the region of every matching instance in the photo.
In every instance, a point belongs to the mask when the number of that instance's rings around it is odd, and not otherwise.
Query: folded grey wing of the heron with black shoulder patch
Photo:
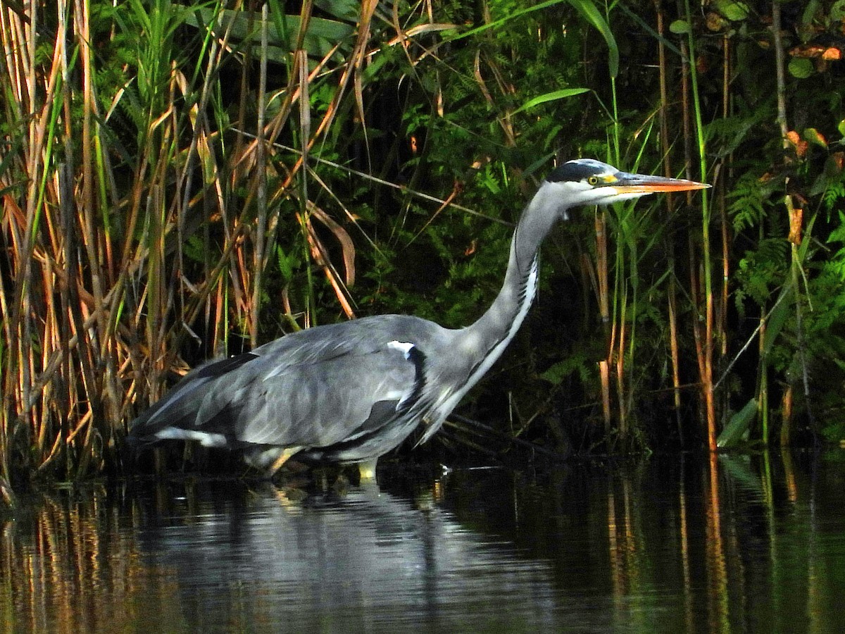
[[[314,349],[306,356],[248,353],[199,368],[139,418],[132,434],[322,448],[379,435],[417,399],[423,355],[410,343]],[[342,459],[367,457],[353,451]]]

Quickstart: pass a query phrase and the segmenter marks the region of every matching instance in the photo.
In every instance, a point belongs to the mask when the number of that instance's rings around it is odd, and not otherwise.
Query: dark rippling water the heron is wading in
[[[2,631],[845,631],[845,451],[37,496]]]

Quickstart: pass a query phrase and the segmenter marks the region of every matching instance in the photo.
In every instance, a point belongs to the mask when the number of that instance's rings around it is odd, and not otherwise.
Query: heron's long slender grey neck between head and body
[[[522,212],[510,243],[508,270],[504,284],[490,308],[474,324],[464,329],[467,358],[473,369],[466,389],[504,352],[504,348],[525,320],[537,294],[537,257],[540,245],[555,221],[561,217],[548,198],[552,192],[541,187]]]

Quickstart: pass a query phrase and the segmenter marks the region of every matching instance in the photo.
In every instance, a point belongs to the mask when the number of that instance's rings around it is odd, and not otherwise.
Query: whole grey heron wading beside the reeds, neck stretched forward
[[[200,366],[131,425],[130,440],[197,440],[243,451],[272,475],[291,456],[369,463],[444,423],[513,339],[537,292],[540,245],[571,208],[709,187],[578,159],[555,168],[526,205],[499,295],[472,325],[376,315],[282,336]]]

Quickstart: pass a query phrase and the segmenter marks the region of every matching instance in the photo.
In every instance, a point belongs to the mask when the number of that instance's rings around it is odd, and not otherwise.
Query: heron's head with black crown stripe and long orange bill
[[[566,210],[579,205],[609,205],[657,192],[683,192],[710,187],[683,178],[619,172],[612,165],[594,159],[566,161],[556,167],[543,184],[559,200],[559,211],[563,217],[566,217]]]

